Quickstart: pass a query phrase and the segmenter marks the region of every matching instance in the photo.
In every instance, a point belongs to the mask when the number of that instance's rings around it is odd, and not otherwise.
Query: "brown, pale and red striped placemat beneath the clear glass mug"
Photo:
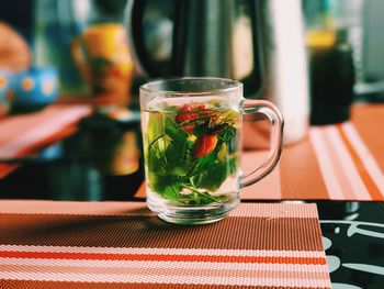
[[[0,201],[1,288],[330,288],[315,204],[244,203],[207,225],[143,202]]]

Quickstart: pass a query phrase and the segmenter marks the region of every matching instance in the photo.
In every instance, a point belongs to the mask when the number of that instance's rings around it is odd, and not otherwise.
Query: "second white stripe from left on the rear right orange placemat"
[[[335,126],[327,126],[326,135],[339,157],[342,170],[346,173],[346,177],[351,184],[352,193],[355,196],[357,200],[372,200],[337,129]]]

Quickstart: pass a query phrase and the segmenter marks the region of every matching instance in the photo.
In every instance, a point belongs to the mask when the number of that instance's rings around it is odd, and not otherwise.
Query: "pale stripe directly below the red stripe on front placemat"
[[[160,262],[160,260],[82,260],[82,259],[36,259],[36,258],[0,258],[0,265],[46,266],[81,268],[159,268],[159,269],[230,269],[230,270],[279,270],[286,273],[328,273],[328,266],[308,264],[271,264],[271,263],[216,263],[216,262]],[[1,271],[1,269],[0,269]]]

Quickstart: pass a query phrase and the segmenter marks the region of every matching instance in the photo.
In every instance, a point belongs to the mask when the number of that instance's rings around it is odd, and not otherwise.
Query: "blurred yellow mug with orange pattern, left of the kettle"
[[[129,99],[133,60],[125,27],[118,23],[93,24],[72,41],[71,53],[93,96],[125,104]]]

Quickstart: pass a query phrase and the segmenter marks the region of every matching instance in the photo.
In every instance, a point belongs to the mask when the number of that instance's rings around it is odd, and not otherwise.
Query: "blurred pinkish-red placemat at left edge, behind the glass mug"
[[[52,104],[36,113],[9,115],[0,120],[0,178],[15,165],[1,159],[27,156],[76,131],[77,122],[92,112],[86,104]]]

